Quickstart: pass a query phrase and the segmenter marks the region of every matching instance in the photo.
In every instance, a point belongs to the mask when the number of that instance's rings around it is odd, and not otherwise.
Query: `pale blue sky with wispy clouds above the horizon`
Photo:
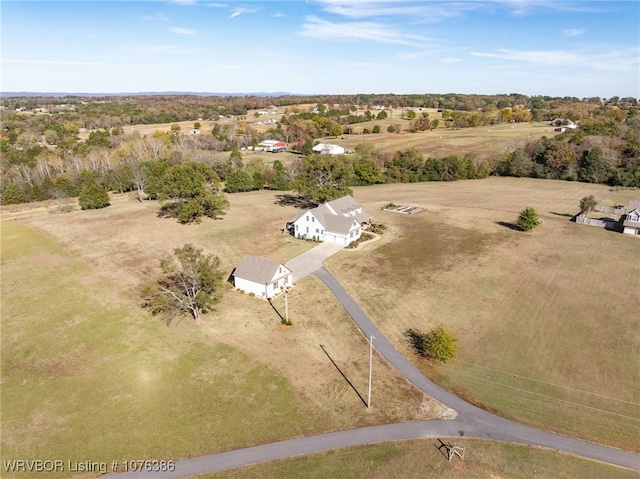
[[[640,2],[3,0],[1,91],[640,97]]]

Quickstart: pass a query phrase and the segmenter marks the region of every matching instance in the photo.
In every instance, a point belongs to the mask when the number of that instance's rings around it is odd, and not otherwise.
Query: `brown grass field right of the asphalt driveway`
[[[358,189],[390,230],[329,267],[396,347],[450,390],[532,425],[638,450],[640,241],[569,222],[586,194],[626,204],[638,192],[515,178]],[[380,211],[388,202],[425,210]],[[543,224],[508,228],[527,205]],[[459,359],[419,361],[403,332],[441,322],[459,337]]]

